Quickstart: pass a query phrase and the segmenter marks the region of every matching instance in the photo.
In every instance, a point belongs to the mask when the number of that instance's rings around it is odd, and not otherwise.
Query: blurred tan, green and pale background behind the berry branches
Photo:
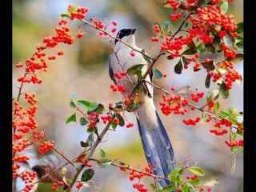
[[[59,15],[66,12],[70,3],[86,6],[90,11],[89,17],[96,16],[106,23],[113,20],[118,22],[118,29],[137,28],[138,46],[152,55],[157,53],[158,46],[150,42],[150,37],[153,36],[151,26],[155,22],[164,22],[169,14],[169,10],[163,8],[159,0],[14,0],[13,2],[13,65],[30,58],[35,47],[42,42],[42,38],[54,33]],[[229,11],[234,14],[237,22],[242,22],[243,1],[234,0],[230,3]],[[78,27],[74,26],[73,29],[74,34],[77,33]],[[78,99],[84,98],[105,105],[122,99],[119,94],[109,89],[112,83],[108,74],[110,43],[98,38],[95,31],[87,26],[84,30],[85,37],[82,40],[72,46],[58,47],[58,50],[65,51],[65,55],[50,63],[47,73],[41,75],[43,83],[40,87],[24,88],[24,90],[34,90],[38,94],[39,129],[45,130],[47,137],[56,141],[58,149],[70,158],[79,154],[82,150],[79,142],[87,137],[84,127],[75,123],[65,125],[66,118],[72,113],[68,104],[70,98],[76,95]],[[238,63],[236,68],[243,74],[242,62]],[[16,79],[23,71],[15,67],[13,69],[15,96],[18,94]],[[190,85],[205,92],[216,88],[212,83],[210,90],[206,90],[204,70],[196,74],[191,70],[185,70],[182,75],[174,74],[174,65],[165,59],[162,59],[162,65],[158,66],[158,69],[165,70],[167,74],[167,78],[155,81],[161,86]],[[240,111],[243,110],[242,84],[235,83],[230,98],[220,101],[223,103],[223,108],[234,106]],[[156,105],[161,95],[158,90],[154,91]],[[200,114],[189,114],[190,117],[197,115]],[[126,116],[135,123],[132,114]],[[243,157],[242,154],[237,154],[236,170],[231,174],[233,156],[224,143],[225,137],[220,138],[210,134],[208,124],[201,123],[196,127],[183,126],[184,117],[175,115],[166,117],[162,114],[161,117],[179,162],[188,161],[192,165],[201,166],[206,169],[206,177],[217,177],[219,184],[214,191],[243,191]],[[106,151],[109,158],[129,162],[130,166],[136,168],[146,166],[137,127],[132,129],[118,127],[115,132],[110,132],[106,136],[100,148]],[[121,173],[115,167],[97,168],[93,180],[96,184],[82,191],[134,191],[132,183],[128,180],[128,174]],[[150,183],[148,180],[145,182]],[[50,191],[50,188],[41,186],[38,191]]]

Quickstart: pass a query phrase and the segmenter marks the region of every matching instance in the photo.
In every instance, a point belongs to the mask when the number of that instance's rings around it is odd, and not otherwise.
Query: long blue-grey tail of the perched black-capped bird
[[[139,116],[137,118],[138,130],[147,162],[153,166],[154,174],[167,177],[175,166],[174,150],[158,112],[154,111],[155,113],[151,114],[155,117],[151,115],[150,118],[156,118],[156,125],[149,123],[145,116]],[[170,182],[166,179],[158,179],[158,185],[165,187],[170,185]]]

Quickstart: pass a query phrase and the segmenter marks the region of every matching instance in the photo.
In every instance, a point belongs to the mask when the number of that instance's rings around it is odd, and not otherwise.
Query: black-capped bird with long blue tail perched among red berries
[[[142,55],[142,53],[146,53],[146,51],[136,44],[135,31],[136,29],[119,30],[114,41],[114,51],[110,54],[109,75],[116,86],[122,86],[125,89],[125,91],[122,91],[124,98],[130,95],[131,91],[134,89],[134,85],[138,82],[138,78],[135,75],[126,75],[124,78],[116,78],[115,74],[127,72],[130,67],[140,64],[143,64],[142,74],[145,74],[150,66],[149,61]],[[139,51],[130,54],[134,51],[131,47]],[[153,76],[151,70],[150,73],[146,75],[145,80],[152,82]],[[170,180],[166,178],[168,178],[168,174],[175,168],[174,149],[158,111],[154,106],[154,87],[148,83],[145,83],[144,87],[146,87],[146,89],[142,89],[138,93],[140,106],[134,114],[137,119],[138,132],[146,160],[152,167],[153,173],[162,177],[157,179],[157,183],[158,186],[164,188],[170,185]]]

